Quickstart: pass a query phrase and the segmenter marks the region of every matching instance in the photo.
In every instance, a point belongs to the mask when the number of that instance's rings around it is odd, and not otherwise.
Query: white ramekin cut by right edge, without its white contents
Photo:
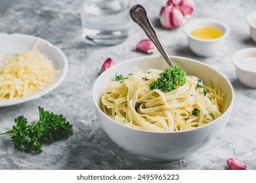
[[[256,58],[256,48],[245,48],[239,50],[233,55],[232,60],[236,67],[236,76],[238,77],[238,80],[249,88],[256,88],[256,68],[255,71],[247,71],[240,66],[241,61],[249,57]]]

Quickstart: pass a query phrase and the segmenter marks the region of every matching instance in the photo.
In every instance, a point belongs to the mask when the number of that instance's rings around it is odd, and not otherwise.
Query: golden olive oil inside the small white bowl
[[[192,31],[191,35],[199,39],[217,39],[223,33],[214,27],[200,27]]]

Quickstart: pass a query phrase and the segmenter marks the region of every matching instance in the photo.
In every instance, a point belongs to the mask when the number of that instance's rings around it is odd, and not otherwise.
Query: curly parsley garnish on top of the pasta
[[[150,84],[150,90],[159,89],[161,92],[171,92],[186,82],[186,75],[181,67],[171,66],[160,73],[160,77]]]

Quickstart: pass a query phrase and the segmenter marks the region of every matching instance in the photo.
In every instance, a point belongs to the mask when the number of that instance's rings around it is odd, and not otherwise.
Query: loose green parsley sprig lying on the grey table
[[[18,116],[11,130],[0,133],[0,135],[11,136],[16,150],[40,153],[43,142],[54,142],[73,134],[72,124],[62,115],[45,111],[42,107],[38,109],[39,122],[37,124],[33,122],[32,125],[28,125],[28,120],[24,116]]]

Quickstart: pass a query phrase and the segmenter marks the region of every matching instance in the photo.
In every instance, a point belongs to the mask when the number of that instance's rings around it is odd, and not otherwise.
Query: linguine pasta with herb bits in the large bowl
[[[186,83],[171,92],[150,90],[161,72],[149,69],[111,81],[101,96],[102,111],[121,124],[148,131],[192,129],[221,116],[223,95],[211,86],[204,86],[205,93],[196,76],[186,76]]]

